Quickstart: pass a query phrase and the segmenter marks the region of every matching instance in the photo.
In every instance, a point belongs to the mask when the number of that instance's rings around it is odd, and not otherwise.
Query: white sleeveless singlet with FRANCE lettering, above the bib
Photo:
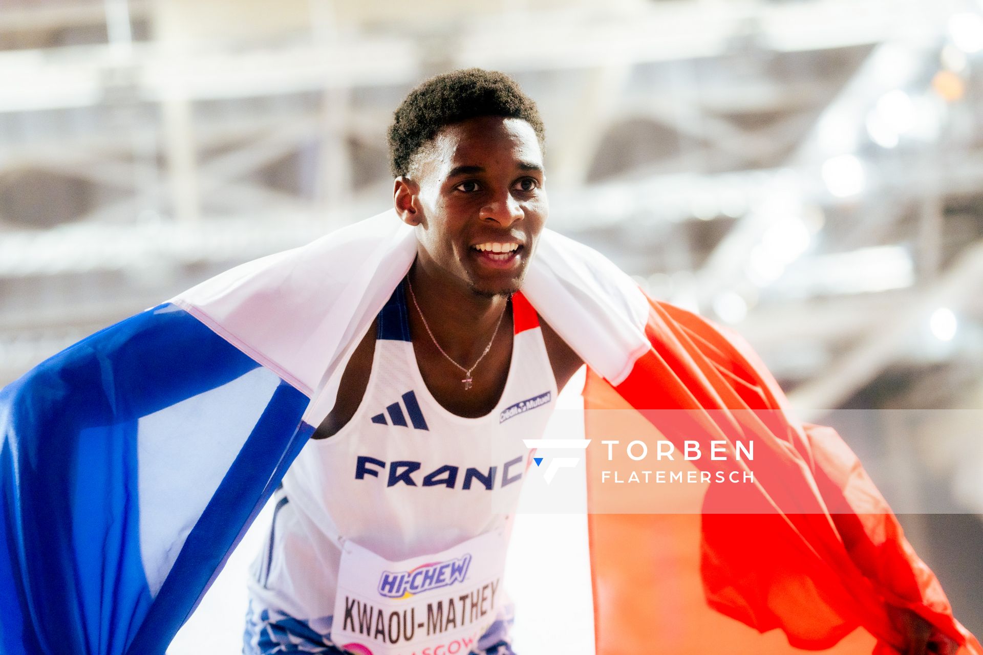
[[[522,440],[542,437],[556,402],[536,311],[517,293],[498,403],[479,418],[441,407],[417,365],[405,286],[404,279],[378,314],[359,408],[291,464],[253,566],[252,602],[320,634],[330,631],[342,539],[396,561],[494,529],[507,535],[532,461]]]

